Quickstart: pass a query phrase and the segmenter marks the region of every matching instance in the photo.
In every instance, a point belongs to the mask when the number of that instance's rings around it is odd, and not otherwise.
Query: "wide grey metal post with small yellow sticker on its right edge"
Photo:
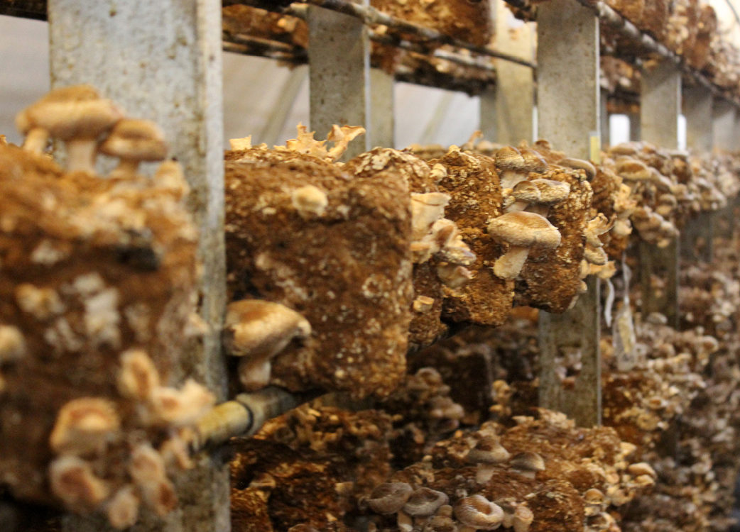
[[[599,21],[575,0],[545,2],[538,7],[537,43],[539,137],[557,141],[556,148],[571,157],[589,159],[591,137],[599,131]],[[567,313],[539,313],[539,403],[580,426],[601,422],[599,281],[587,284],[588,292]],[[573,389],[564,389],[554,374],[564,349],[581,354]]]

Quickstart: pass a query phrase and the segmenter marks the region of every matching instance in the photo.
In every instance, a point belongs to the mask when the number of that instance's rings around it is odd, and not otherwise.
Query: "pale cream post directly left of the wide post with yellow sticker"
[[[493,4],[495,47],[531,61],[534,55],[531,23],[517,21],[504,2]],[[516,146],[534,140],[534,72],[528,66],[496,59],[496,86],[480,95],[480,130],[483,137]]]

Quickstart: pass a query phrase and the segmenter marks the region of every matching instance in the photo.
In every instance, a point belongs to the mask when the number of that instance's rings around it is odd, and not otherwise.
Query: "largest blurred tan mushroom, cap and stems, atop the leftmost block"
[[[48,137],[64,140],[69,171],[94,171],[98,137],[124,117],[111,100],[100,98],[90,85],[49,92],[16,116],[16,126],[27,135],[24,148],[40,152]]]

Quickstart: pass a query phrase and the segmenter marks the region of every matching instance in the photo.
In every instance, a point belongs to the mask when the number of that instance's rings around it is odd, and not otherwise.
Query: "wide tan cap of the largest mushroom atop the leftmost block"
[[[75,85],[55,89],[28,106],[16,116],[16,127],[24,134],[40,127],[61,140],[95,139],[123,117],[121,109],[92,86]]]

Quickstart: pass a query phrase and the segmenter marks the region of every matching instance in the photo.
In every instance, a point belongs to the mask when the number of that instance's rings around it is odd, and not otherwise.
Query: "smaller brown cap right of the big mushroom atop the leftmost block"
[[[158,161],[167,156],[167,143],[162,130],[151,120],[124,118],[115,124],[100,151],[121,159]]]

